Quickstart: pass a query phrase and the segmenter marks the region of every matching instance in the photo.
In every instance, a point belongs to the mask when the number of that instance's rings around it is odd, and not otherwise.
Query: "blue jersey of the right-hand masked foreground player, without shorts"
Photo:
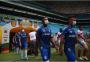
[[[72,29],[72,27],[67,27],[64,32],[64,39],[65,39],[65,47],[75,47],[75,43],[76,43],[76,33],[75,30]]]

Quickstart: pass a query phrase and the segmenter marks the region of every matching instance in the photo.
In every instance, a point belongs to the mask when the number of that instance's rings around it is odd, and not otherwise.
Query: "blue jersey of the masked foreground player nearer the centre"
[[[37,35],[40,39],[40,46],[42,47],[50,47],[50,41],[51,41],[51,30],[48,27],[41,27],[37,31]]]

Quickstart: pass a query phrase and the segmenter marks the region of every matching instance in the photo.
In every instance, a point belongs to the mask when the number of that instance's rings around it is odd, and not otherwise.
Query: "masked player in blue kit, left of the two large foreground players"
[[[49,62],[51,54],[50,41],[52,37],[51,37],[51,30],[48,27],[47,17],[42,18],[42,24],[43,25],[37,30],[36,39],[37,44],[39,44],[43,62]]]

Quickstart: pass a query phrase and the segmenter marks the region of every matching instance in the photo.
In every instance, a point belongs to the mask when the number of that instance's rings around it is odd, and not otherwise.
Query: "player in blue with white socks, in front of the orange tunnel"
[[[28,60],[28,57],[27,57],[27,47],[28,47],[27,34],[24,29],[21,30],[20,37],[21,37],[21,45],[20,45],[21,46],[21,59]]]

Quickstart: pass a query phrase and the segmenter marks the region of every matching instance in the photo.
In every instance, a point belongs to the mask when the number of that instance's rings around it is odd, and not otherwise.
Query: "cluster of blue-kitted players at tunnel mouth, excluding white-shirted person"
[[[27,33],[24,29],[22,29],[20,32],[16,33],[14,36],[15,41],[15,49],[16,53],[20,53],[21,59],[28,60],[27,56],[27,48],[28,48],[28,42],[27,42]]]

